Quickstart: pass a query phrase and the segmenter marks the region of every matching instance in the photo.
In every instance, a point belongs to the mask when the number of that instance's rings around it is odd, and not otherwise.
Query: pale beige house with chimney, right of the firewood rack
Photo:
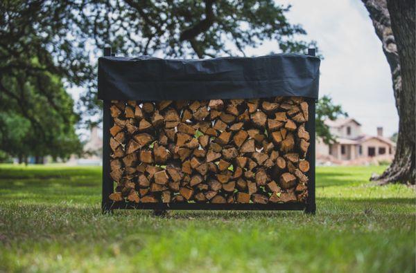
[[[336,138],[331,144],[324,144],[317,138],[317,159],[327,158],[333,162],[353,160],[372,160],[380,158],[391,160],[395,154],[395,142],[383,137],[383,127],[377,127],[376,135],[365,135],[361,124],[354,118],[326,120],[329,131]]]

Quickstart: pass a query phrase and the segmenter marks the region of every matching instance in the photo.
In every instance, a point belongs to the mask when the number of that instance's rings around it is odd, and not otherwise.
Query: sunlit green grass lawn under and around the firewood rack
[[[317,169],[317,214],[102,215],[101,168],[0,165],[0,272],[415,272],[415,191]]]

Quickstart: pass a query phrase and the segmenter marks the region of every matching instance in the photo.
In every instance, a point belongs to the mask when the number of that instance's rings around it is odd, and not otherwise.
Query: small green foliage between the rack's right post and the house
[[[340,115],[348,116],[343,111],[342,106],[333,104],[332,98],[329,95],[324,95],[318,100],[316,104],[316,116],[315,116],[315,130],[316,135],[322,138],[326,144],[333,143],[335,138],[329,131],[329,126],[325,124],[325,120],[336,120]]]

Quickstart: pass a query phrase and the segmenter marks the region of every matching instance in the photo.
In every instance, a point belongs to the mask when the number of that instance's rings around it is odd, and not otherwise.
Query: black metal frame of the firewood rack
[[[315,56],[315,48],[309,48],[308,55]],[[114,57],[111,48],[104,48],[104,56]],[[98,86],[100,88],[100,86]],[[306,131],[311,137],[306,160],[309,161],[308,198],[306,203],[268,203],[268,204],[211,204],[211,203],[132,203],[113,202],[109,196],[114,192],[114,182],[110,177],[110,128],[114,125],[110,115],[110,100],[103,105],[103,199],[101,207],[103,213],[111,213],[114,209],[189,209],[189,210],[297,210],[306,214],[315,214],[315,100],[308,99],[309,120]]]

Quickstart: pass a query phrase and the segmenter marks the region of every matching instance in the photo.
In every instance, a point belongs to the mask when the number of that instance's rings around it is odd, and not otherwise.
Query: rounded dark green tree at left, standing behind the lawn
[[[48,73],[18,79],[21,82],[3,79],[0,85],[10,92],[0,92],[0,150],[19,162],[33,156],[36,163],[43,162],[44,156],[67,159],[71,153],[81,153],[75,133],[78,115],[73,113],[73,100],[60,79]]]

